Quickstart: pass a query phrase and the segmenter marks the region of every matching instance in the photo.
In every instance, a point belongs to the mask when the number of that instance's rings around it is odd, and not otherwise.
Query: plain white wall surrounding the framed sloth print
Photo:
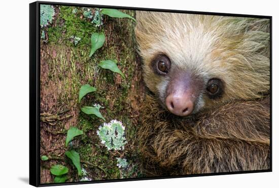
[[[28,181],[28,14],[30,0],[2,1],[0,10],[0,186],[27,187]],[[79,0],[62,1],[204,12],[273,16],[273,172],[116,183],[76,187],[274,187],[278,184],[278,88],[277,45],[279,13],[276,1],[213,0]],[[276,179],[277,176],[277,179]],[[273,185],[273,186],[272,186]],[[72,186],[71,186],[72,187]]]

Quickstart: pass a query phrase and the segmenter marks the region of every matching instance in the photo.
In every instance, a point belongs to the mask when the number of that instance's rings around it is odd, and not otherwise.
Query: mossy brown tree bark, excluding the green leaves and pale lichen
[[[77,13],[73,10],[77,9]],[[91,9],[94,14],[95,9]],[[68,181],[78,181],[77,170],[64,153],[67,129],[71,126],[84,134],[73,141],[73,148],[80,154],[84,167],[92,180],[121,178],[116,166],[116,157],[130,161],[130,177],[140,172],[137,151],[134,146],[136,127],[141,124],[139,109],[143,100],[144,85],[141,65],[137,61],[134,41],[134,25],[131,19],[103,16],[103,25],[95,27],[83,16],[83,8],[55,7],[55,18],[47,28],[47,42],[41,40],[41,156],[50,157],[41,161],[41,183],[53,182],[50,167],[63,164],[69,168]],[[135,16],[134,11],[122,11]],[[103,31],[106,42],[90,58],[90,36]],[[71,36],[81,38],[75,46]],[[117,73],[97,66],[101,60],[116,59],[125,79]],[[97,91],[90,93],[78,103],[82,85],[90,84]],[[104,122],[81,112],[82,106],[100,104],[101,114],[109,122],[119,120],[126,127],[128,143],[124,151],[108,151],[96,134]]]

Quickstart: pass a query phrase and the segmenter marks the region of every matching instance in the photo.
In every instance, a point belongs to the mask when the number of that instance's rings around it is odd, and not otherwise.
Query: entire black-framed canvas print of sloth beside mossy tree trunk
[[[271,17],[30,4],[30,184],[271,171]]]

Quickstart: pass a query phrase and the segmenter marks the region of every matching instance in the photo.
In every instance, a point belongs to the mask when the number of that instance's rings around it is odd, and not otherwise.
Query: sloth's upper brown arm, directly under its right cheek
[[[270,100],[233,102],[198,118],[200,138],[238,139],[269,145]]]

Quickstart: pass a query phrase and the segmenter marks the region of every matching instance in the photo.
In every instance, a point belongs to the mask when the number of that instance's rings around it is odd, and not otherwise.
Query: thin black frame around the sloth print
[[[163,176],[163,177],[127,178],[127,179],[110,179],[110,180],[97,180],[97,181],[84,181],[84,182],[42,184],[40,182],[40,5],[41,4],[270,19],[270,169],[240,171],[240,172],[191,174],[191,175],[168,176],[168,177]],[[130,181],[130,180],[134,181],[134,180],[147,180],[147,179],[212,176],[212,175],[227,175],[227,174],[244,174],[244,173],[257,173],[257,172],[272,172],[272,16],[196,12],[196,11],[181,11],[181,10],[162,10],[162,9],[150,9],[150,8],[102,6],[102,5],[41,2],[41,1],[29,4],[29,184],[33,186],[72,185],[72,184],[85,184],[85,183],[101,183],[101,182]]]

